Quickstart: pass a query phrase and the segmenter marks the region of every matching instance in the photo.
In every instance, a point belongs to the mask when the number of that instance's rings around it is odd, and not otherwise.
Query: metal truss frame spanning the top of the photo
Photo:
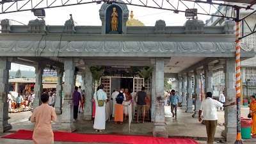
[[[89,4],[89,3],[120,3],[128,4],[131,6],[141,6],[145,8],[155,8],[160,10],[169,10],[174,13],[194,13],[196,15],[209,15],[212,17],[221,17],[225,19],[232,19],[235,21],[241,21],[242,30],[244,27],[250,29],[251,33],[241,36],[240,39],[256,33],[256,21],[255,25],[249,26],[246,18],[256,13],[256,10],[247,15],[242,19],[237,19],[237,13],[239,10],[253,10],[252,6],[256,1],[248,6],[237,6],[236,4],[225,4],[225,3],[209,3],[207,0],[0,0],[0,14],[3,13],[14,13],[14,12],[24,12],[24,11],[33,11],[38,9],[47,9],[47,8],[58,8],[63,6],[74,6],[79,4]],[[193,5],[191,7],[191,5]],[[221,6],[222,10],[220,10]],[[186,9],[198,8],[200,12],[189,12]],[[211,13],[212,8],[216,10],[217,13]],[[209,10],[209,11],[208,11]],[[236,13],[235,13],[236,12]]]

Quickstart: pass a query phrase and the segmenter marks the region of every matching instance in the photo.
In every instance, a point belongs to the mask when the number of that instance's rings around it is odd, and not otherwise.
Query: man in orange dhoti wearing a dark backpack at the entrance
[[[115,104],[115,123],[124,122],[123,102],[125,101],[124,88],[121,88],[120,93],[116,96]]]

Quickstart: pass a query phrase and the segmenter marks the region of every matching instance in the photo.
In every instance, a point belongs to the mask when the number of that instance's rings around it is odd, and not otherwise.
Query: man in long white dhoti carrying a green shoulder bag
[[[96,131],[104,131],[106,127],[106,100],[108,99],[107,93],[103,91],[104,85],[100,84],[99,88],[97,88],[97,92],[94,93],[93,99],[95,101],[95,119],[93,124],[93,129]],[[99,89],[99,90],[98,90]],[[98,101],[104,100],[104,105],[99,106]]]

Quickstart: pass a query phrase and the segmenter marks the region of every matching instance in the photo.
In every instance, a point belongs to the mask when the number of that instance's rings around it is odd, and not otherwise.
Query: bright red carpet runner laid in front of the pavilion
[[[32,134],[33,131],[19,130],[14,134],[9,134],[2,138],[32,140]],[[194,140],[180,138],[154,138],[152,136],[125,136],[113,134],[77,134],[70,132],[54,132],[54,141],[127,144],[198,144]]]

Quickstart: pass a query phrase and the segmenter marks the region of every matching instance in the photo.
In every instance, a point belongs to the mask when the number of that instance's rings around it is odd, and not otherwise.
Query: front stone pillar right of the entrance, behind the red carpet
[[[156,118],[154,122],[153,136],[168,138],[164,120],[164,59],[156,58]]]

